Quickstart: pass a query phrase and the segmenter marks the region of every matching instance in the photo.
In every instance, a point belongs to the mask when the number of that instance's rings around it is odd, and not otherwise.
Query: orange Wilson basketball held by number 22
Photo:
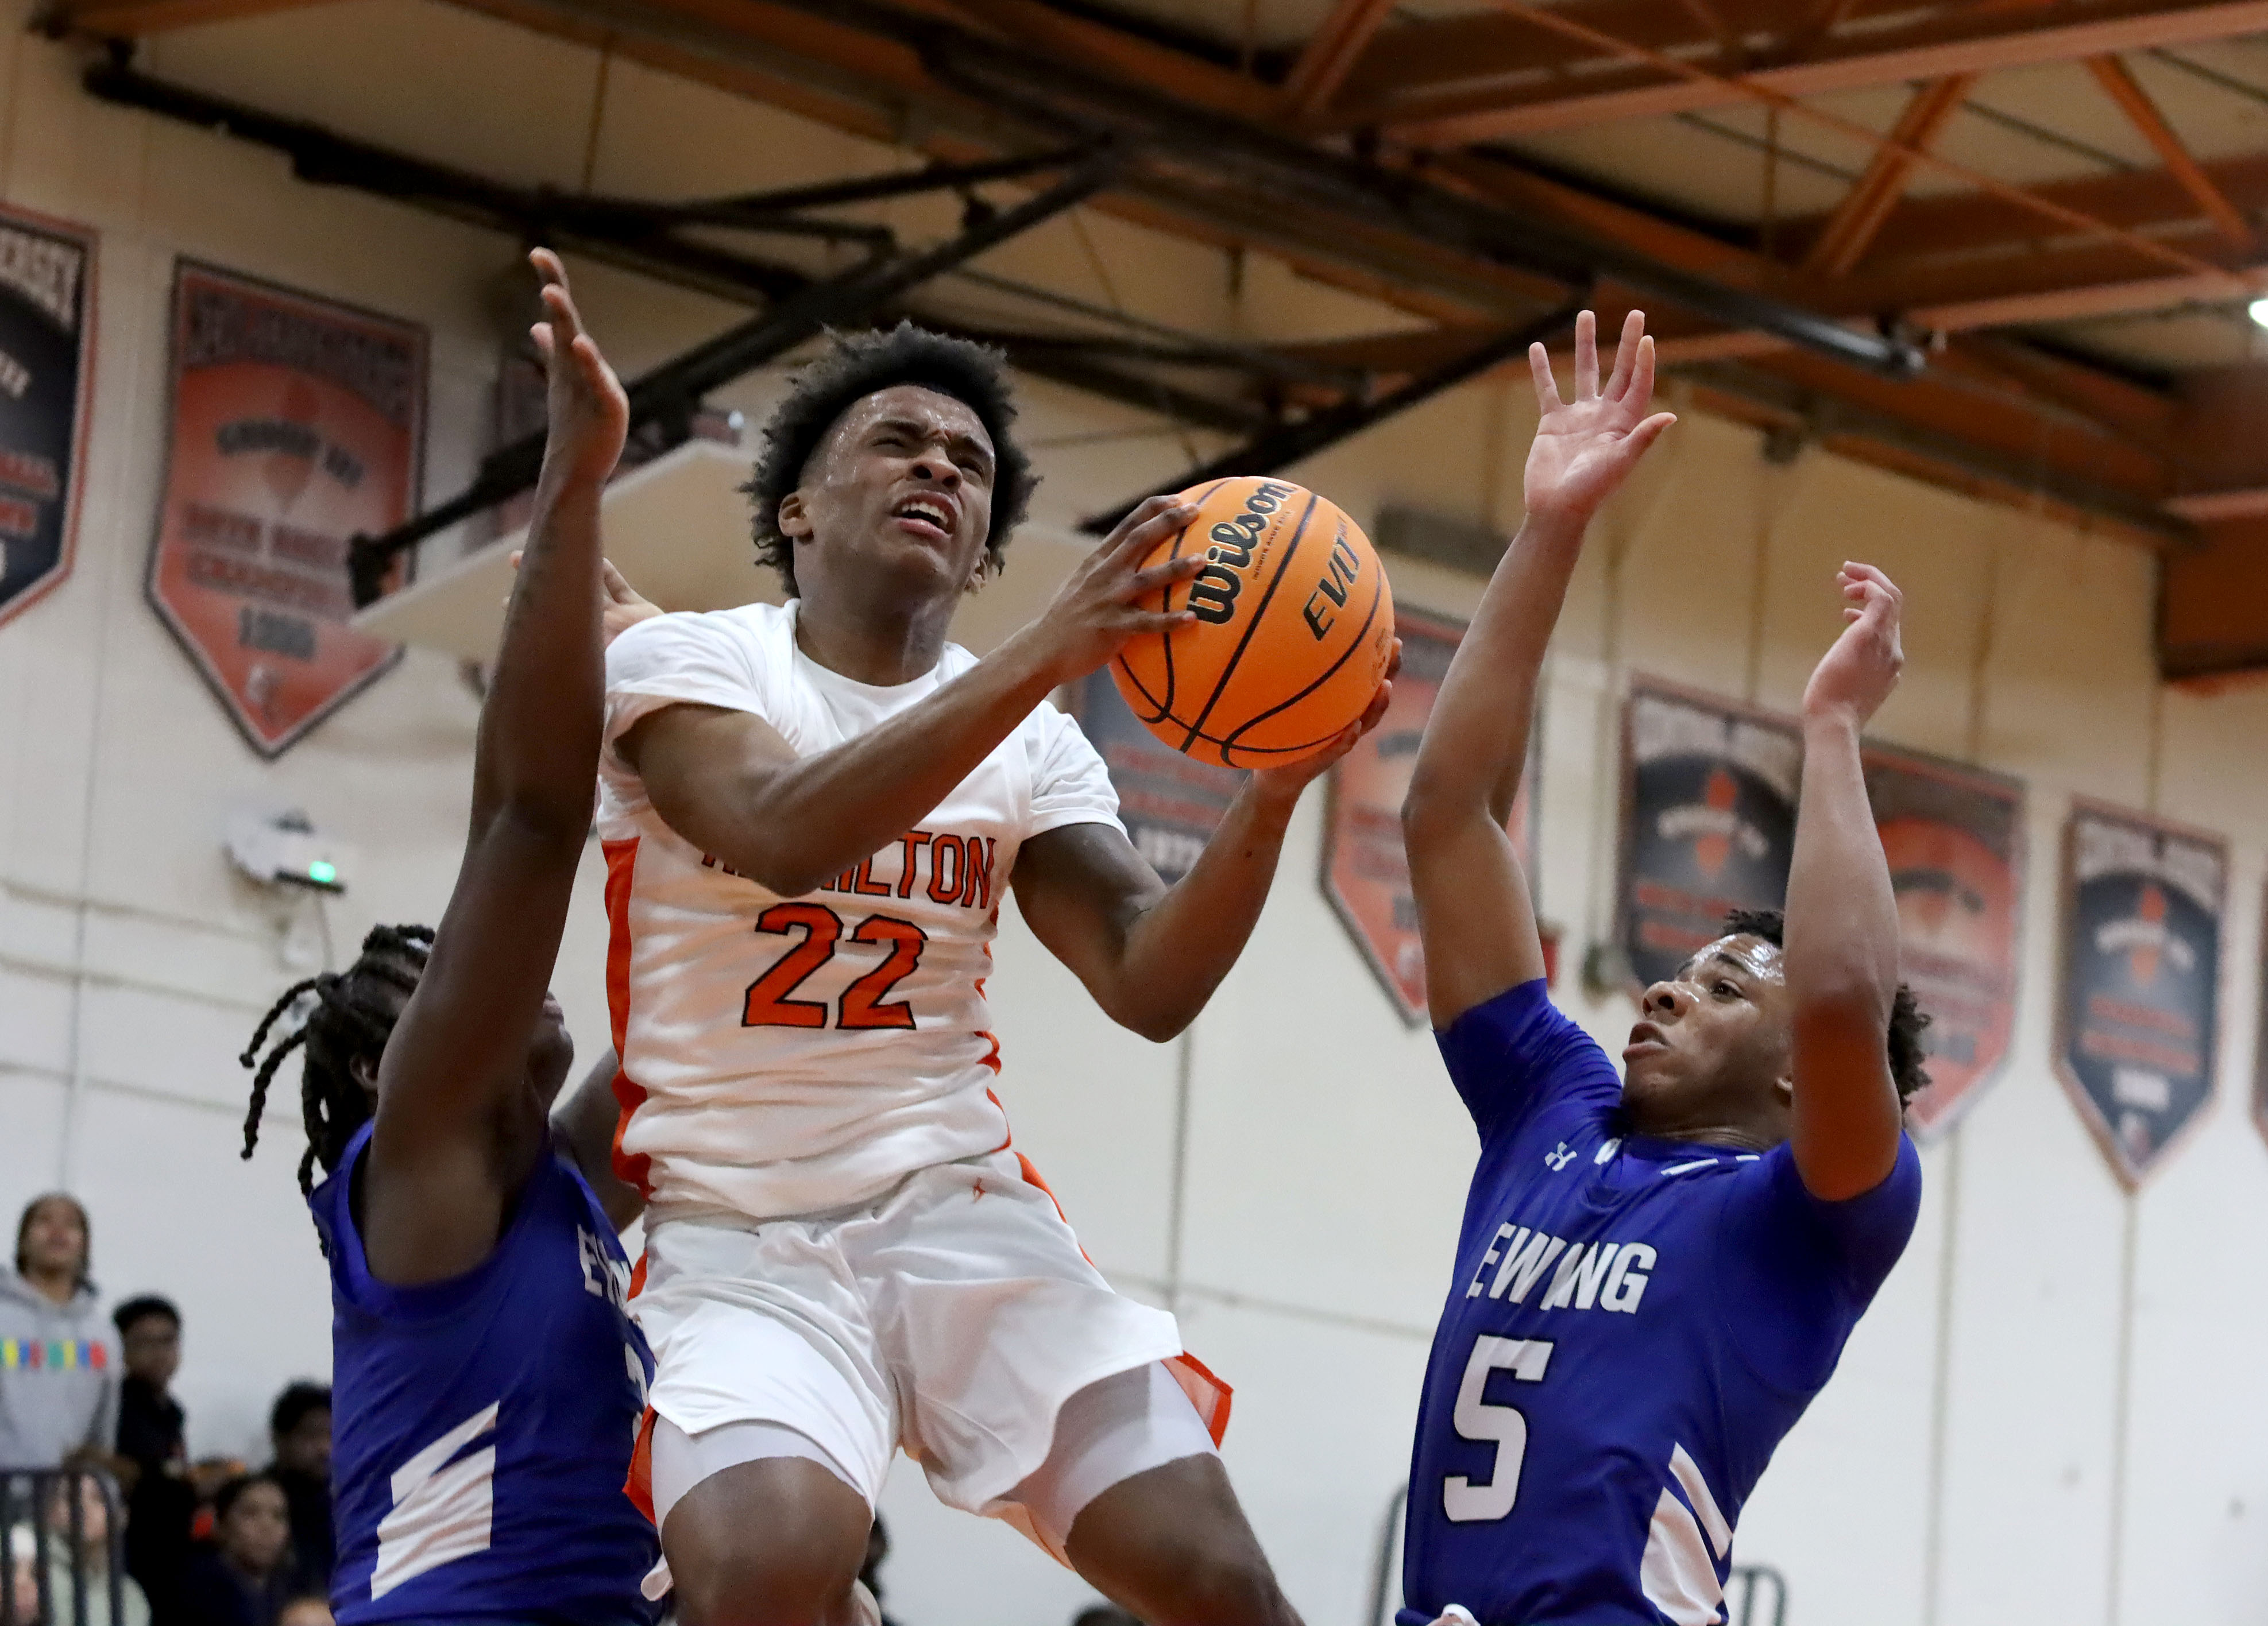
[[[1145,633],[1111,662],[1134,714],[1175,751],[1232,769],[1311,757],[1363,714],[1395,649],[1395,596],[1363,528],[1290,481],[1182,492],[1198,517],[1145,565],[1202,549],[1166,590],[1191,626]]]

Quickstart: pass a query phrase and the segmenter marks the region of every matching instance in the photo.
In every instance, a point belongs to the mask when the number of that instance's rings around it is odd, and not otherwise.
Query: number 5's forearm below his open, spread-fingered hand
[[[1417,746],[1402,805],[1413,850],[1431,821],[1510,816],[1545,651],[1581,551],[1583,524],[1531,515],[1497,562]]]

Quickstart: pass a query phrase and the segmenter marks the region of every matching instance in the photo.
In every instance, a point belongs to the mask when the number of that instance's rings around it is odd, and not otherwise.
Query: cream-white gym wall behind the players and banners
[[[515,245],[100,107],[77,91],[73,52],[25,32],[25,16],[16,0],[0,9],[0,195],[102,240],[77,574],[0,628],[0,1211],[54,1184],[79,1193],[104,1290],[163,1290],[186,1311],[193,1449],[259,1456],[272,1392],[327,1370],[329,1304],[293,1188],[297,1068],[247,1168],[236,1052],[284,984],[324,957],[342,964],[370,923],[440,912],[476,703],[454,662],[411,651],[263,764],[159,626],[141,583],[172,259],[424,322],[426,492],[440,499],[485,449],[494,288]],[[590,156],[601,190],[701,195],[898,161],[628,61],[610,68],[587,145],[596,61],[415,0],[186,29],[143,57],[166,77],[519,181],[581,186]],[[395,88],[411,77],[422,100],[404,102]],[[950,213],[916,202],[894,218],[941,227]],[[1395,320],[1266,259],[1232,295],[1218,254],[1095,211],[987,265],[1254,338]],[[603,268],[574,272],[626,374],[737,320]],[[760,374],[719,404],[753,417],[776,388]],[[1517,374],[1470,386],[1293,474],[1359,517],[1393,497],[1510,528],[1524,388]],[[1188,460],[1179,435],[1127,408],[1048,386],[1025,401],[1034,440],[1077,438],[1039,458],[1050,522]],[[1089,438],[1111,429],[1127,433]],[[2268,1145],[2248,1113],[2268,687],[2155,683],[2150,558],[1817,451],[1774,467],[1749,431],[1687,417],[1601,519],[1554,653],[1538,889],[1565,932],[1560,998],[1601,1036],[1631,1018],[1574,977],[1608,925],[1626,676],[1792,708],[1837,628],[1830,574],[1851,556],[1907,587],[1910,669],[1880,737],[2025,780],[2025,975],[2005,1075],[1926,1152],[1914,1243],[1735,1551],[1787,1574],[1799,1626],[2257,1619],[2268,1406],[2250,1356],[2268,1299],[2239,1238],[2268,1234]],[[1479,592],[1424,565],[1393,574],[1404,603],[1449,615]],[[2220,1098],[2136,1197],[2048,1070],[2073,794],[2232,837]],[[243,805],[304,807],[354,841],[349,896],[318,918],[311,900],[279,905],[240,882],[220,832]],[[1177,1304],[1193,1352],[1238,1388],[1227,1458],[1254,1524],[1311,1626],[1356,1626],[1474,1143],[1429,1036],[1397,1021],[1327,909],[1318,841],[1311,794],[1252,948],[1186,1048],[1111,1030],[1014,916],[991,991],[1018,1147],[1098,1263]],[[556,986],[594,1055],[596,850],[583,880]],[[1061,1626],[1089,1597],[1005,1528],[937,1508],[903,1463],[887,1510],[889,1603],[909,1626]]]

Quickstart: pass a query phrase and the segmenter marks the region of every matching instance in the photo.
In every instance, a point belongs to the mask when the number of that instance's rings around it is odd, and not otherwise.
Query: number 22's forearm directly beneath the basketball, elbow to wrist
[[[1247,780],[1195,866],[1143,909],[1105,1009],[1143,1039],[1166,1041],[1198,1021],[1245,952],[1268,903],[1297,796]]]

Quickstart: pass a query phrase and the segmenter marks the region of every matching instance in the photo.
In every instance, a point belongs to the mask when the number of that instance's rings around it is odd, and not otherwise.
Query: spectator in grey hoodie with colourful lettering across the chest
[[[32,1197],[16,1268],[0,1270],[0,1467],[109,1465],[118,1438],[118,1345],[86,1277],[77,1197]]]

